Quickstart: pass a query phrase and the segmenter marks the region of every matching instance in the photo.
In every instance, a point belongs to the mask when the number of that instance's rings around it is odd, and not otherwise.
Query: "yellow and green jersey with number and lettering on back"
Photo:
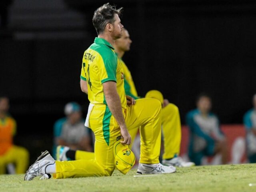
[[[102,84],[115,81],[122,108],[126,108],[124,71],[113,46],[103,38],[95,38],[84,52],[80,78],[87,81],[88,99],[92,104],[107,104]]]

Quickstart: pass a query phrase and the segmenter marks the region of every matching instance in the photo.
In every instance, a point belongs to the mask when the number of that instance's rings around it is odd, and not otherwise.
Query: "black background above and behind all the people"
[[[88,100],[80,90],[84,50],[96,31],[102,0],[2,0],[0,95],[10,98],[17,142],[50,150],[54,121],[67,102]],[[256,92],[256,2],[248,0],[119,0],[133,40],[123,58],[138,94],[160,90],[180,109],[212,96],[224,124],[242,123]],[[24,142],[24,141],[30,142]]]

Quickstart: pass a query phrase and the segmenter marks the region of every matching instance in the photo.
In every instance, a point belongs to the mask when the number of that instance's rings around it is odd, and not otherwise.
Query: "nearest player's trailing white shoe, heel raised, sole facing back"
[[[55,160],[48,151],[42,152],[37,160],[30,166],[25,174],[24,180],[29,181],[34,179],[36,176],[42,175],[42,178],[50,178],[50,174],[46,174],[46,166],[54,164]]]

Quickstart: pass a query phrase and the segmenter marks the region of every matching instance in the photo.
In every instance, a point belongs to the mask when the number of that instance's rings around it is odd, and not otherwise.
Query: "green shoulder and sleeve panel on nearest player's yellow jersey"
[[[115,81],[116,82],[116,68],[117,68],[117,56],[116,54],[104,44],[92,44],[90,49],[98,52],[102,57],[104,62],[104,66],[106,68],[106,72],[108,74],[108,78],[103,79],[101,83],[107,81]]]

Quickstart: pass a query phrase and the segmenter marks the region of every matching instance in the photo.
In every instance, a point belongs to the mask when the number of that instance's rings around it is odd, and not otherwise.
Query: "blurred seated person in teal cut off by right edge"
[[[246,128],[246,152],[250,163],[256,163],[256,94],[252,98],[253,108],[244,114]]]

